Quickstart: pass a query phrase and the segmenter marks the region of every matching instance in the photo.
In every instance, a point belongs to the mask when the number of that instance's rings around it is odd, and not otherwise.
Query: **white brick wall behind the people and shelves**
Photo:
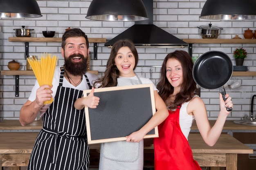
[[[201,38],[197,26],[208,25],[211,21],[213,26],[223,28],[219,38],[233,38],[239,35],[243,38],[245,29],[256,30],[256,21],[218,21],[200,19],[202,7],[206,0],[154,0],[154,24],[177,38]],[[8,38],[15,36],[13,29],[25,25],[32,31],[32,37],[43,37],[42,31],[56,31],[55,37],[61,37],[69,26],[79,27],[89,38],[107,38],[110,40],[116,35],[132,26],[134,22],[101,22],[85,18],[91,0],[37,0],[43,17],[30,19],[0,19],[0,70],[8,70],[7,64],[15,59],[20,62],[20,70],[26,69],[25,43],[9,42]],[[93,52],[93,44],[90,51]],[[234,63],[232,56],[236,47],[244,47],[248,57],[244,65],[249,66],[249,71],[256,71],[256,44],[193,44],[193,55],[200,56],[211,50],[219,50],[227,53]],[[63,64],[61,56],[61,43],[56,42],[30,42],[29,55],[40,55],[48,52],[59,57],[58,65]],[[139,52],[139,64],[136,69],[138,75],[150,78],[157,83],[160,67],[164,57],[176,49],[170,48],[137,48]],[[188,49],[183,49],[187,51]],[[98,70],[100,75],[105,71],[105,66],[110,49],[99,43],[98,60],[91,60],[91,69]],[[103,66],[102,66],[103,65]],[[251,97],[256,91],[255,76],[236,76],[242,86],[231,90],[226,88],[227,93],[233,97],[234,108],[228,119],[240,119],[245,114],[250,114]],[[0,75],[0,120],[18,119],[19,110],[29,97],[31,88],[35,82],[33,75],[20,75],[20,93],[15,97],[15,79],[12,75]],[[209,119],[216,119],[219,110],[218,90],[201,89],[201,97],[204,100]],[[254,107],[256,110],[256,107]]]

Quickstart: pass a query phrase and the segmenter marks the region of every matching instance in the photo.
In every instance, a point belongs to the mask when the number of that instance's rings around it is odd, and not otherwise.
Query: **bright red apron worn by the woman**
[[[201,170],[193,159],[189,142],[179,123],[180,106],[158,126],[159,137],[154,138],[155,170]]]

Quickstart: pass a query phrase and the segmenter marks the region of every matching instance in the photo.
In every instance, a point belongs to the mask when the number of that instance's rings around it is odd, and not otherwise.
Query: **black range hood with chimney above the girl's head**
[[[148,20],[136,21],[133,26],[120,33],[112,40],[105,43],[105,46],[111,47],[117,40],[130,39],[135,46],[141,47],[181,47],[188,44],[179,38],[171,35],[163,29],[153,24],[153,0],[142,0],[147,13]]]

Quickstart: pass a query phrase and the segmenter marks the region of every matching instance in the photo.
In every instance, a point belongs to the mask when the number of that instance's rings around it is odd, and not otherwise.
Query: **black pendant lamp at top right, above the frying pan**
[[[256,0],[207,0],[199,18],[253,20],[256,19]]]

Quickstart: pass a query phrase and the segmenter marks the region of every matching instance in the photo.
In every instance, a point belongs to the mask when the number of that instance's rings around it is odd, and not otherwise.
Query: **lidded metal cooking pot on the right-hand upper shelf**
[[[212,39],[218,38],[218,35],[219,35],[218,31],[223,29],[217,26],[212,26],[212,24],[198,26],[198,28],[201,29],[202,38],[212,38]]]

